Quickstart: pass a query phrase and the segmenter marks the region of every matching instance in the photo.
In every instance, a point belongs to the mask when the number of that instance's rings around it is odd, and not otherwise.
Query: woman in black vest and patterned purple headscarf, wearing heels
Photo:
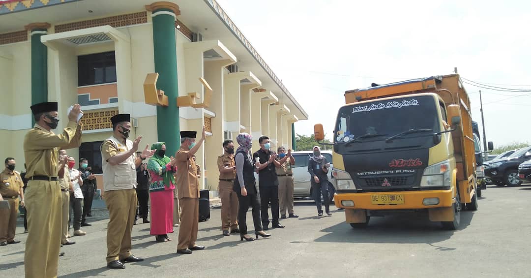
[[[240,240],[253,241],[254,238],[247,234],[247,210],[249,205],[252,206],[254,233],[256,238],[270,237],[270,234],[262,231],[262,221],[260,219],[260,200],[258,199],[258,191],[256,190],[256,183],[254,182],[254,163],[251,158],[252,137],[247,133],[240,133],[236,137],[239,144],[236,150],[236,179],[234,180],[234,191],[238,195],[238,223],[239,223],[239,237]],[[240,182],[242,181],[242,182]]]

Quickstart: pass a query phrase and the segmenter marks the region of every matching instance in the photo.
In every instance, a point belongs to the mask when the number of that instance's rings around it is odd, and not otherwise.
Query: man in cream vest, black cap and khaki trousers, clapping
[[[129,114],[118,114],[110,118],[113,136],[101,144],[101,166],[105,204],[109,210],[107,224],[107,267],[125,268],[124,263],[141,262],[143,258],[131,254],[131,232],[136,216],[136,168],[145,158],[153,156],[156,150],[146,145],[139,157],[138,149],[142,136],[134,141],[127,140],[131,132]]]

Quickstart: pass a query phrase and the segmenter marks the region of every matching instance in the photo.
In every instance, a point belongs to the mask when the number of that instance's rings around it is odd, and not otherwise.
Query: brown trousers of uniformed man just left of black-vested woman
[[[221,230],[238,228],[238,196],[230,181],[219,181],[219,195],[221,197]]]

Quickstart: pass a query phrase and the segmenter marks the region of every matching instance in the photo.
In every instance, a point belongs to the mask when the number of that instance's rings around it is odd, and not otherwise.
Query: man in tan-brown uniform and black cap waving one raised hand
[[[195,144],[195,131],[181,131],[181,148],[175,153],[177,166],[177,191],[181,205],[181,226],[179,226],[178,254],[192,254],[192,250],[203,250],[204,246],[195,244],[198,238],[199,224],[199,181],[193,155],[204,141],[203,135]]]

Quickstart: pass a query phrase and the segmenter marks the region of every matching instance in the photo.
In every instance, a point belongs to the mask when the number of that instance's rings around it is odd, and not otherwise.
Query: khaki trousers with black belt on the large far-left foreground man
[[[57,277],[63,223],[59,183],[30,180],[24,199],[28,211],[25,277]]]

